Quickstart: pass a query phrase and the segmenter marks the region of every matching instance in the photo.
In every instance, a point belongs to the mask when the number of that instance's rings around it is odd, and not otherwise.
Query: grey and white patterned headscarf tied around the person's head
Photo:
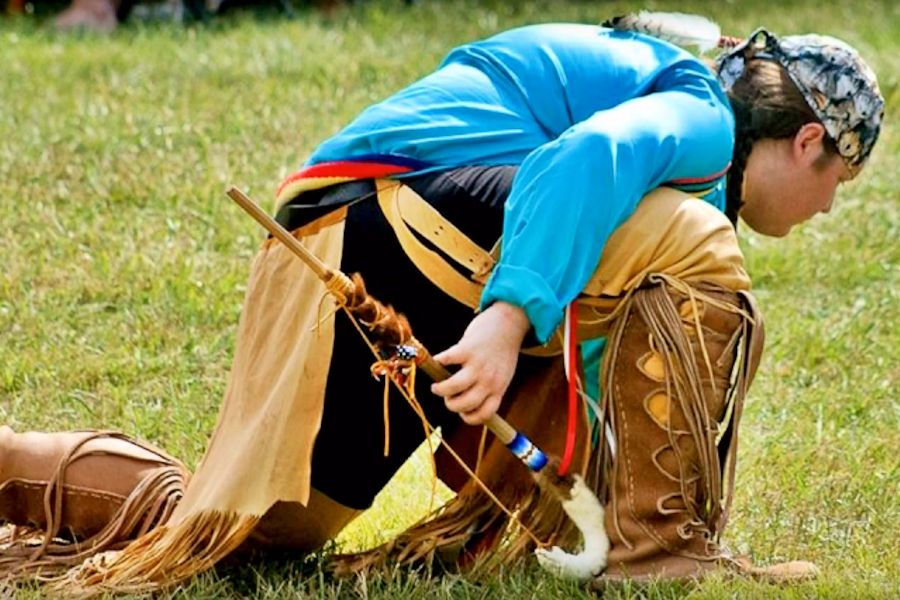
[[[757,29],[718,59],[719,81],[726,91],[741,77],[747,58],[777,61],[819,117],[853,176],[872,152],[884,97],[875,74],[859,54],[833,37],[793,35],[777,38]]]

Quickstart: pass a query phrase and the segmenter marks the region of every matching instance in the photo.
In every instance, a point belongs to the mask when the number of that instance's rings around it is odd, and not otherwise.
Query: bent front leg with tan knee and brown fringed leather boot
[[[655,191],[610,239],[588,288],[614,281],[639,286],[619,304],[603,358],[598,450],[612,547],[598,585],[721,566],[780,579],[815,574],[802,562],[753,569],[720,543],[763,343],[733,227],[704,202]]]

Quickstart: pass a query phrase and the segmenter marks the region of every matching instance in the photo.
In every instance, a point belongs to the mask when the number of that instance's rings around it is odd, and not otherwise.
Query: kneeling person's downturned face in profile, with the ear
[[[825,152],[825,128],[807,123],[791,138],[756,142],[744,168],[741,218],[757,233],[782,237],[794,225],[831,210],[850,171]]]

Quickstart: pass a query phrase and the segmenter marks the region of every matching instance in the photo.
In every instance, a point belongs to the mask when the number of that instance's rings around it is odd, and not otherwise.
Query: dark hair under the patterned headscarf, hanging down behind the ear
[[[743,199],[741,189],[747,158],[757,140],[794,137],[807,123],[821,123],[797,85],[778,63],[748,57],[747,66],[728,99],[734,110],[734,156],[728,173],[725,214],[737,224]],[[827,154],[837,154],[837,146],[825,136]]]

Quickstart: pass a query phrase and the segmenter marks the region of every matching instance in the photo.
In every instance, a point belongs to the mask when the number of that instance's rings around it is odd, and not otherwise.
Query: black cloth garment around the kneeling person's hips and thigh
[[[405,181],[473,241],[490,248],[499,238],[503,203],[514,167],[467,167]],[[360,273],[369,293],[405,314],[416,337],[437,353],[459,341],[474,313],[426,279],[409,261],[385,220],[370,181],[302,194],[279,211],[278,220],[299,227],[354,202],[345,223],[340,268]],[[390,400],[390,453],[383,456],[383,382],[369,375],[374,358],[343,315],[335,323],[334,354],[325,392],[322,427],[312,459],[312,485],[341,504],[368,508],[376,494],[422,443],[424,430],[396,390]],[[417,378],[416,397],[434,427],[462,421]]]

